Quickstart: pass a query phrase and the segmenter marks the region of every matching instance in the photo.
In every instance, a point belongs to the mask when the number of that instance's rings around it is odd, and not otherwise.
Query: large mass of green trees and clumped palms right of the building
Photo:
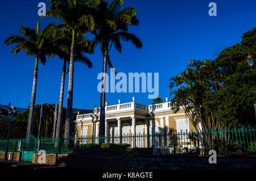
[[[243,33],[241,44],[222,50],[214,61],[188,61],[187,69],[170,79],[172,110],[182,107],[196,131],[199,123],[206,132],[255,124],[256,72],[246,61],[249,51],[255,57],[255,31]],[[200,141],[206,149],[214,145],[207,134]]]

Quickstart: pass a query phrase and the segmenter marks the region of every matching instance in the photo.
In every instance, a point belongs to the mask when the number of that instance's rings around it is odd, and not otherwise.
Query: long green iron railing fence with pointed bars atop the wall
[[[210,132],[174,132],[152,134],[124,134],[68,138],[39,138],[35,150],[46,153],[74,154],[205,154],[205,139],[212,140],[210,149],[218,154],[256,154],[256,129],[228,128]],[[0,140],[5,151],[6,140]],[[19,139],[9,140],[9,151],[19,151]],[[209,151],[209,150],[208,150]]]

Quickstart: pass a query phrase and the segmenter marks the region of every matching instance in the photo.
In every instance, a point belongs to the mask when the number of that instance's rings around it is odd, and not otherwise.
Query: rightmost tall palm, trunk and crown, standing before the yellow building
[[[101,136],[105,135],[105,74],[107,62],[110,68],[113,68],[109,51],[114,45],[114,48],[121,53],[121,40],[131,42],[136,48],[142,48],[142,41],[133,33],[127,32],[129,25],[138,26],[139,24],[136,18],[136,10],[133,7],[122,9],[122,5],[123,0],[113,0],[109,5],[108,2],[102,1],[97,7],[97,32],[90,46],[94,48],[97,44],[100,44],[103,56],[99,131]]]

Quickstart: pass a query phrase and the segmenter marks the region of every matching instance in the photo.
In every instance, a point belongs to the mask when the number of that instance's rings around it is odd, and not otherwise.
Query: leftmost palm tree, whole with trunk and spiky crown
[[[46,55],[48,54],[49,49],[51,49],[49,40],[47,40],[46,36],[44,36],[47,31],[48,27],[45,27],[42,32],[40,32],[40,25],[38,20],[36,30],[23,26],[20,28],[21,36],[11,35],[6,37],[5,41],[3,42],[5,45],[16,44],[13,48],[13,51],[11,52],[12,54],[16,54],[25,50],[27,56],[35,56],[34,81],[30,101],[30,113],[27,123],[27,136],[32,133],[33,127],[36,84],[38,80],[38,62],[40,60],[43,65],[46,64]]]

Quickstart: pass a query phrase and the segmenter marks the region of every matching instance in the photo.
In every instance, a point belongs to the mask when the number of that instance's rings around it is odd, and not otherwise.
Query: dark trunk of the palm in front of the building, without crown
[[[100,110],[100,130],[99,135],[105,136],[105,88],[106,88],[106,63],[108,51],[104,53],[104,61],[102,68],[102,87],[101,87],[101,110]]]

